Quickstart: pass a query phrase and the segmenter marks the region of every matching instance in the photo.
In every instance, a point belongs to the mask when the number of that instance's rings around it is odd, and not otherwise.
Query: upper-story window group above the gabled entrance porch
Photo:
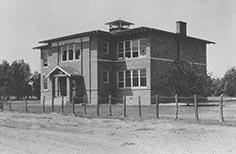
[[[81,54],[81,46],[77,44],[69,44],[61,47],[61,61],[79,60]]]

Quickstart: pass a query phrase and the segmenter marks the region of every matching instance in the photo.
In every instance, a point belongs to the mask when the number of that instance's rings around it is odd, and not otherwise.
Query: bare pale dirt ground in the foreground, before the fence
[[[0,153],[235,154],[236,128],[187,120],[0,112]]]

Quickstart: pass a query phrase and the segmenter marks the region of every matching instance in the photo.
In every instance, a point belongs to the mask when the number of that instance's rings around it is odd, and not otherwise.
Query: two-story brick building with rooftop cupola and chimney
[[[85,97],[87,103],[111,95],[126,95],[127,104],[150,104],[151,96],[170,95],[162,84],[166,68],[176,59],[194,62],[206,72],[206,47],[214,42],[187,35],[186,23],[176,23],[176,33],[133,23],[106,23],[107,31],[89,31],[40,41],[41,100],[60,103],[62,96]],[[117,100],[118,101],[118,100]],[[76,100],[81,102],[81,100]]]

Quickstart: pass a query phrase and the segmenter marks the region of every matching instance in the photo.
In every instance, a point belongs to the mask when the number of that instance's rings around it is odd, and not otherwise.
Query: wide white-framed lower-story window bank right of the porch
[[[118,88],[146,87],[146,69],[123,70],[117,72]]]

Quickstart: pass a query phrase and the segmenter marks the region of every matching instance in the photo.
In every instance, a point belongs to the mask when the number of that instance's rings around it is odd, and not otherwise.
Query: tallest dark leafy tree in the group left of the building
[[[29,64],[24,60],[14,61],[11,64],[10,76],[11,94],[17,99],[31,95],[31,86],[29,85],[31,72]]]

